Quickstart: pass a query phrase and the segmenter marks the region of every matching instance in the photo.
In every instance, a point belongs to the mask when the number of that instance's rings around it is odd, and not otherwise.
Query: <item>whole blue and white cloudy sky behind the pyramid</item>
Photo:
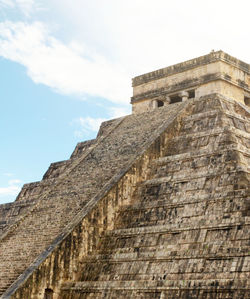
[[[249,0],[0,0],[0,204],[131,113],[131,79],[223,50],[249,63]]]

